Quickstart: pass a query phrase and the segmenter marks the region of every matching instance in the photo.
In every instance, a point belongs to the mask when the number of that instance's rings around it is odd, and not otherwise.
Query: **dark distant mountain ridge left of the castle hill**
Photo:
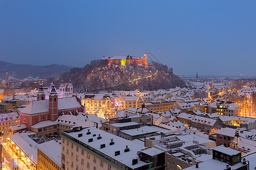
[[[0,61],[0,78],[5,78],[6,72],[9,74],[9,78],[24,79],[28,76],[47,78],[51,76],[60,76],[65,72],[69,72],[73,67],[67,65],[22,65]]]

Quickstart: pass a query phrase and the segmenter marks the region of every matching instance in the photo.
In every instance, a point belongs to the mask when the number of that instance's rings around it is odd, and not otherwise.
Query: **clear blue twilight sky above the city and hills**
[[[256,1],[0,1],[0,60],[83,67],[146,49],[177,75],[256,75]]]

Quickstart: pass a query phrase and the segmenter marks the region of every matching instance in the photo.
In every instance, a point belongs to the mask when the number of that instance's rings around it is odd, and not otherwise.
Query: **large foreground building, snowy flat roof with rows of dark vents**
[[[61,169],[164,169],[164,153],[96,128],[61,132]]]

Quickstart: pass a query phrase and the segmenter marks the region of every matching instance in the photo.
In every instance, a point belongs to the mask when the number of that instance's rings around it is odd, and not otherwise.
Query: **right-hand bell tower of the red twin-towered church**
[[[49,112],[50,112],[49,119],[51,121],[55,121],[59,116],[59,114],[58,114],[58,95],[57,95],[57,92],[55,91],[54,84],[52,85],[52,90],[49,94]]]

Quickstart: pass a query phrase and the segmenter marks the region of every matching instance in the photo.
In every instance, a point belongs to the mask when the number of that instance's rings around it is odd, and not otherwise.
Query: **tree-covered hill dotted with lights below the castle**
[[[63,80],[72,80],[76,92],[99,90],[158,90],[184,87],[185,83],[172,68],[151,62],[147,67],[139,65],[108,65],[98,59],[83,68],[73,68],[63,74]]]

